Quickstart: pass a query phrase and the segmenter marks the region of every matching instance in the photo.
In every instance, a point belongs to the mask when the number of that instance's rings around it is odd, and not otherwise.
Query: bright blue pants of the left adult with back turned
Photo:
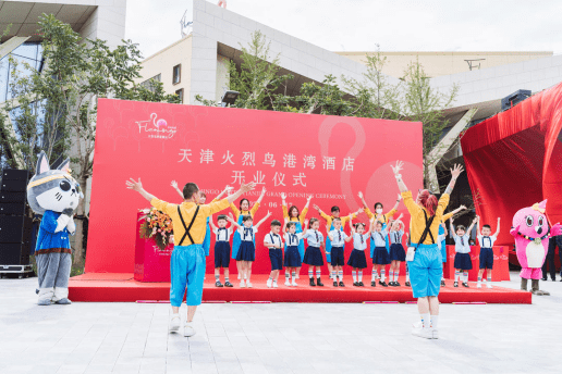
[[[181,307],[187,285],[187,306],[199,306],[205,278],[205,249],[203,245],[175,246],[170,261],[170,303]]]

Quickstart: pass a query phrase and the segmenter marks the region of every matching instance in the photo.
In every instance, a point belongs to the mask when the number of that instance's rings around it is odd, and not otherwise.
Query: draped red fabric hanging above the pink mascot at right
[[[513,215],[548,199],[551,224],[562,222],[562,84],[474,127],[461,140],[476,212],[513,245]]]

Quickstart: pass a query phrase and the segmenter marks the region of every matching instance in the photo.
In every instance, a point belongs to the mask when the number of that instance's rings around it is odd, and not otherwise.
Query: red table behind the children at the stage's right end
[[[493,271],[492,282],[510,280],[509,248],[506,246],[493,247]],[[447,246],[447,263],[444,264],[444,276],[454,279],[454,246]],[[468,271],[468,280],[478,280],[480,269],[480,247],[471,247],[471,259],[473,270]],[[485,275],[486,276],[486,275]]]

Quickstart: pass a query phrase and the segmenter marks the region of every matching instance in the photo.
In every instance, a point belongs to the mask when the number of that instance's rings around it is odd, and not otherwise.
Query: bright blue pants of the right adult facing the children
[[[415,247],[415,245],[413,244]],[[407,262],[410,282],[415,298],[438,296],[441,289],[443,262],[437,245],[417,246],[414,261]]]

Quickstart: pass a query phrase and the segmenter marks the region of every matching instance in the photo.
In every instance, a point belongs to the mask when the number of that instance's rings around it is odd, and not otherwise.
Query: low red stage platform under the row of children
[[[232,279],[233,288],[215,287],[215,276],[207,274],[204,302],[408,302],[415,301],[412,288],[404,286],[404,277],[400,278],[402,287],[370,287],[370,276],[365,287],[353,287],[349,276],[346,287],[333,287],[328,276],[322,277],[325,287],[308,286],[308,278],[301,277],[298,287],[284,286],[280,277],[279,288],[267,288],[267,275],[253,275],[254,288],[240,288],[236,275]],[[366,279],[366,277],[364,277]],[[345,279],[344,279],[345,280]],[[439,300],[443,303],[485,302],[485,303],[532,303],[532,294],[502,287],[486,287],[478,289],[471,282],[469,288],[453,287],[452,280],[447,280],[441,288]],[[169,283],[142,283],[133,278],[133,273],[87,273],[70,279],[69,298],[72,301],[94,302],[136,302],[169,300]]]

